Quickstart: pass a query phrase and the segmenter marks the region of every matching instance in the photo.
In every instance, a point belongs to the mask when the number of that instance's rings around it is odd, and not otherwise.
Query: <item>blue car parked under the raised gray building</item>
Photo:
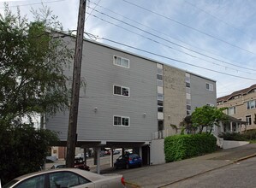
[[[141,167],[142,160],[138,154],[127,153],[123,156],[119,156],[114,163],[116,168],[129,168],[129,167]]]

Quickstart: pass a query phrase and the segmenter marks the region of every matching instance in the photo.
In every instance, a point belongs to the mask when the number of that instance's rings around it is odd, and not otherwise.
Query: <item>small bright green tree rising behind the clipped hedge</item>
[[[223,114],[223,109],[217,109],[216,107],[211,107],[205,105],[200,108],[196,108],[192,113],[192,123],[193,127],[199,128],[199,133],[201,133],[206,127],[206,132],[211,134],[213,126],[219,126],[218,123],[220,120],[225,120]],[[209,132],[208,129],[210,128]]]

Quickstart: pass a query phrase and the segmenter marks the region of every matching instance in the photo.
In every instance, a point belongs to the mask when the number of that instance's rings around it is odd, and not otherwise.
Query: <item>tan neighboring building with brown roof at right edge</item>
[[[256,129],[256,85],[217,98],[217,108],[222,107],[227,108],[225,114],[242,121],[239,132]],[[226,131],[234,132],[234,128],[230,126]]]

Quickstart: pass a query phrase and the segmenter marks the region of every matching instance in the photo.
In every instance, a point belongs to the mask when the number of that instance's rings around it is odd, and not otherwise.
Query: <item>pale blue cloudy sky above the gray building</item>
[[[33,20],[51,8],[76,30],[79,0],[0,0]],[[109,44],[217,81],[217,97],[256,84],[254,0],[87,0],[86,32]],[[97,36],[97,37],[93,37]]]

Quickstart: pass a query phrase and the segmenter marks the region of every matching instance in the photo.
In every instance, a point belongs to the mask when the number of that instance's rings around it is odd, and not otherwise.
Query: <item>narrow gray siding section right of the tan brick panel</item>
[[[213,85],[213,91],[206,90],[206,83]],[[191,111],[207,103],[216,106],[216,82],[190,73]]]

